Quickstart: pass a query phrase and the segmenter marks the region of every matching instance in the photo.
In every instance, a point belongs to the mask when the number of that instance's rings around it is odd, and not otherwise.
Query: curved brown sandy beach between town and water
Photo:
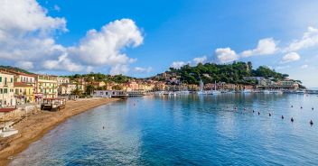
[[[14,125],[14,129],[19,130],[18,134],[0,138],[0,165],[8,165],[11,157],[23,152],[31,143],[41,139],[44,134],[71,116],[118,100],[117,98],[78,99],[68,101],[65,109],[59,112],[41,111],[36,115],[28,116],[27,119]]]

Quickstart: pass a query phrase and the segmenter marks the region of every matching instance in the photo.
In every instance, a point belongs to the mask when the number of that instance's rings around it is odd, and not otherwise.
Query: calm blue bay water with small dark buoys
[[[318,97],[130,98],[70,118],[11,164],[317,165]]]

